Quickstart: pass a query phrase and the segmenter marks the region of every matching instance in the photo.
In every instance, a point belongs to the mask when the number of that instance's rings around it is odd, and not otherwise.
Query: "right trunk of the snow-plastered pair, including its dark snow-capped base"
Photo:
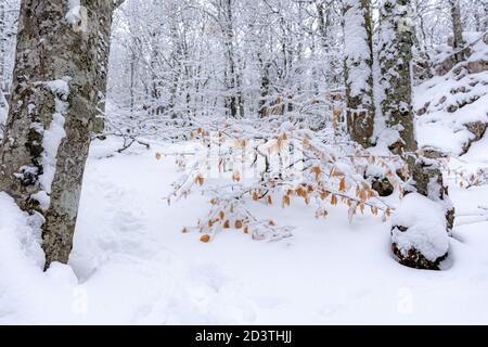
[[[383,115],[387,126],[387,141],[394,154],[400,155],[409,165],[411,192],[418,192],[442,206],[446,217],[446,232],[453,226],[454,209],[444,183],[442,171],[437,165],[438,153],[423,151],[418,156],[412,112],[411,60],[413,44],[413,23],[409,0],[386,0],[381,12],[380,65],[384,100]],[[418,228],[428,226],[419,226]],[[409,227],[393,224],[393,233],[408,234]],[[428,230],[424,230],[428,236]],[[438,264],[425,261],[421,249],[412,248],[408,254],[393,243],[393,252],[401,264],[433,269]],[[442,259],[439,257],[439,259]],[[436,259],[437,261],[438,259]]]

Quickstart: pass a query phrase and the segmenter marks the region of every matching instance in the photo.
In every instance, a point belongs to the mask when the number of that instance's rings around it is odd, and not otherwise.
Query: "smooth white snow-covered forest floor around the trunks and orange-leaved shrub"
[[[488,166],[487,145],[472,147],[472,166]],[[170,157],[155,159],[168,145],[106,157],[116,146],[92,145],[69,266],[42,273],[39,235],[0,194],[0,323],[488,323],[486,222],[455,228],[437,272],[397,264],[389,222],[349,224],[343,207],[314,219],[305,205],[253,202],[296,226],[294,239],[229,230],[202,243],[181,230],[205,214],[205,198],[164,200],[179,175]],[[488,205],[488,187],[451,196],[468,213]]]

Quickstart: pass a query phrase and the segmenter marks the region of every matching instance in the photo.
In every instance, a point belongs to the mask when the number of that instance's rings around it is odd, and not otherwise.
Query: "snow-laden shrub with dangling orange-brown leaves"
[[[372,188],[373,176],[385,177],[398,196],[403,194],[400,157],[369,152],[345,141],[333,130],[311,131],[293,119],[241,119],[197,128],[191,147],[176,156],[184,171],[174,183],[168,203],[200,190],[210,210],[193,228],[208,242],[224,229],[240,229],[256,240],[292,235],[292,227],[261,220],[251,202],[290,207],[293,200],[313,206],[316,217],[326,217],[332,206],[344,204],[349,218],[370,211],[389,217],[393,207]],[[333,129],[328,127],[326,129]]]

